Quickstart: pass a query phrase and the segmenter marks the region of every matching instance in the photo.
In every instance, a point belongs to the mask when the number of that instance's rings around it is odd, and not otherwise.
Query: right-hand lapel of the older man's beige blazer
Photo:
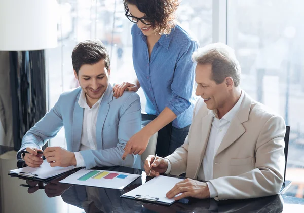
[[[242,91],[244,92],[244,91]],[[244,92],[245,93],[245,92]],[[231,146],[239,137],[246,131],[243,124],[248,121],[249,112],[251,107],[251,98],[245,93],[244,99],[241,103],[240,109],[236,116],[232,119],[230,127],[228,128],[215,157],[224,151],[227,147]]]

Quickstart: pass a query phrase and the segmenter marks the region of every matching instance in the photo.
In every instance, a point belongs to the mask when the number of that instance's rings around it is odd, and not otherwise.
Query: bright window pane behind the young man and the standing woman
[[[54,106],[63,91],[78,87],[73,74],[71,53],[86,39],[99,39],[107,47],[111,60],[110,82],[133,82],[136,74],[132,62],[131,27],[125,17],[122,0],[58,0],[58,47],[46,51],[48,72],[48,106]],[[212,0],[183,0],[177,18],[187,31],[205,45],[212,41]],[[138,91],[142,111],[145,96]],[[51,146],[66,148],[64,129],[51,140]]]

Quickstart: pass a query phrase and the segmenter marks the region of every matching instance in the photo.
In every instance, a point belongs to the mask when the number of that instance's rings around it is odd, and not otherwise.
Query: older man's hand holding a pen
[[[167,168],[167,160],[156,155],[149,155],[144,162],[144,170],[147,176],[159,176],[160,174],[165,173]]]

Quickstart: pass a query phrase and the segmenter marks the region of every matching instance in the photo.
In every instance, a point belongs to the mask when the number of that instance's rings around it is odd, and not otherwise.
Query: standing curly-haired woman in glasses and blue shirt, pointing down
[[[141,155],[149,138],[173,121],[169,154],[188,135],[194,103],[195,64],[192,53],[198,42],[175,22],[177,0],[123,0],[132,26],[134,83],[115,85],[114,96],[142,87],[147,99],[146,113],[158,117],[133,135],[127,154]]]

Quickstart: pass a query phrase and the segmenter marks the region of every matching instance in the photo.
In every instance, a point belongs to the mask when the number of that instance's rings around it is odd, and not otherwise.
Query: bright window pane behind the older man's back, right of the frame
[[[304,13],[301,0],[234,0],[227,44],[242,67],[241,87],[291,126],[286,194],[304,197]]]

